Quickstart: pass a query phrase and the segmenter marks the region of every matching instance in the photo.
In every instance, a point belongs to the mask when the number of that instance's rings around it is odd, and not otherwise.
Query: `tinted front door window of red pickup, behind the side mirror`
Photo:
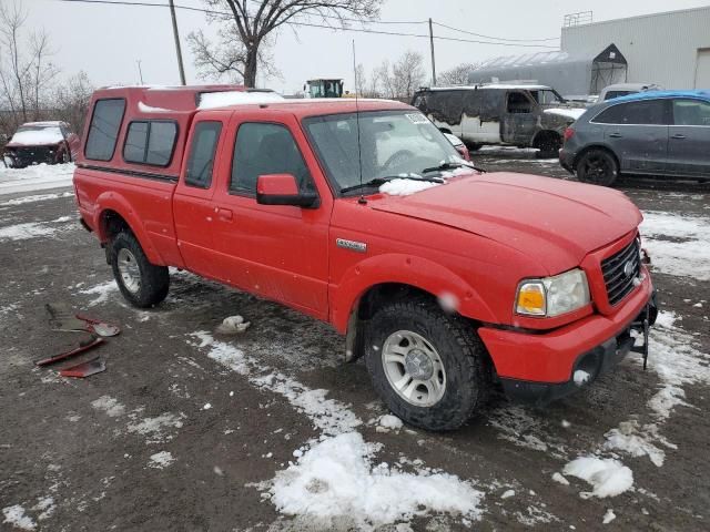
[[[256,180],[266,174],[292,174],[301,191],[313,188],[306,163],[287,127],[244,123],[234,143],[230,191],[256,195]]]

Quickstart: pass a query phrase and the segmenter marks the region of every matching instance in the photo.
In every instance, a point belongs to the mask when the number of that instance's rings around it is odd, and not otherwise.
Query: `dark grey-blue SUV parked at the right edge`
[[[566,131],[559,158],[598,185],[622,174],[710,180],[710,91],[653,91],[595,105]]]

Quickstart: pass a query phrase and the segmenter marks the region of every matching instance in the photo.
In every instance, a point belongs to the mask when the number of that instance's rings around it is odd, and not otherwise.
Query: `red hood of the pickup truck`
[[[618,191],[513,173],[456,177],[409,196],[382,195],[369,205],[496,241],[537,259],[549,275],[578,266],[642,219]]]

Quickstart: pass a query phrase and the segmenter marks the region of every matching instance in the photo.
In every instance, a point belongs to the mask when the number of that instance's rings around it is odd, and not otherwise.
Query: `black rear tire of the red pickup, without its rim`
[[[121,253],[125,249],[128,253]],[[119,258],[121,255],[132,257],[138,267],[138,287],[131,289],[121,274]],[[123,259],[123,257],[121,257]],[[135,267],[134,266],[134,267]],[[140,243],[132,233],[121,232],[111,241],[111,268],[113,277],[123,297],[134,307],[154,307],[168,296],[170,274],[168,267],[155,266],[148,260]]]

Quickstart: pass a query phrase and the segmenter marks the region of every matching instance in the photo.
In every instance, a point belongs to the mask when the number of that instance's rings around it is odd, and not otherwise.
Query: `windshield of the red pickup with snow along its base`
[[[308,137],[338,192],[361,182],[355,113],[303,121]],[[359,153],[364,183],[420,177],[424,170],[466,164],[444,134],[416,111],[359,113]]]

